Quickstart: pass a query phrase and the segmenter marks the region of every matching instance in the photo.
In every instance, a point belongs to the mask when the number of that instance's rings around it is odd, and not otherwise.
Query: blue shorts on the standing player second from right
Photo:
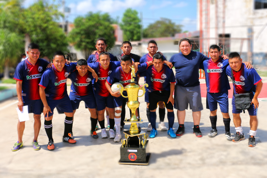
[[[229,113],[228,90],[219,93],[207,92],[207,109],[215,111],[218,103],[222,113]]]

